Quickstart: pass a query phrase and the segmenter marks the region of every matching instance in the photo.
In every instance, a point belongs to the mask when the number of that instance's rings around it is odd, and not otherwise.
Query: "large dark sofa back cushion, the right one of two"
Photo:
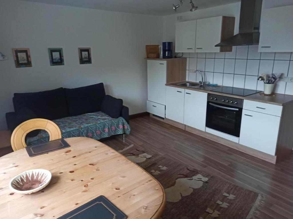
[[[100,111],[105,96],[104,84],[93,84],[79,88],[64,88],[69,116]]]

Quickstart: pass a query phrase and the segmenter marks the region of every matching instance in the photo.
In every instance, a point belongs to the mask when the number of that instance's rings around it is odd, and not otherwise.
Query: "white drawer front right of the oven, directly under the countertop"
[[[262,113],[279,116],[279,117],[282,114],[282,106],[256,102],[251,100],[244,100],[243,109],[248,109],[255,112],[262,112]]]

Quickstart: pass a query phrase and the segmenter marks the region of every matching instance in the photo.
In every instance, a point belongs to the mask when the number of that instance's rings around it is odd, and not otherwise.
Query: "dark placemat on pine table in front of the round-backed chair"
[[[28,152],[28,156],[34,157],[41,154],[46,154],[52,151],[57,151],[66,147],[70,147],[70,145],[62,138],[44,142],[38,145],[31,145],[25,147],[26,151]]]

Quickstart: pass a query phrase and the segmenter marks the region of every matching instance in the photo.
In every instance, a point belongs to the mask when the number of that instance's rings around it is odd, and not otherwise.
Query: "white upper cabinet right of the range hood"
[[[293,5],[263,10],[258,51],[293,51]]]

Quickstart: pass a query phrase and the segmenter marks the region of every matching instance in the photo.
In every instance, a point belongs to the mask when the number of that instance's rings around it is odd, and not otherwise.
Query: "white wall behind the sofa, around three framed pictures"
[[[163,17],[17,0],[0,0],[0,15],[0,130],[16,92],[103,82],[130,114],[146,111],[145,45],[162,42]],[[63,48],[64,66],[50,66],[50,47]],[[92,64],[79,64],[78,47],[91,47]],[[12,48],[30,48],[33,67],[16,68]]]

